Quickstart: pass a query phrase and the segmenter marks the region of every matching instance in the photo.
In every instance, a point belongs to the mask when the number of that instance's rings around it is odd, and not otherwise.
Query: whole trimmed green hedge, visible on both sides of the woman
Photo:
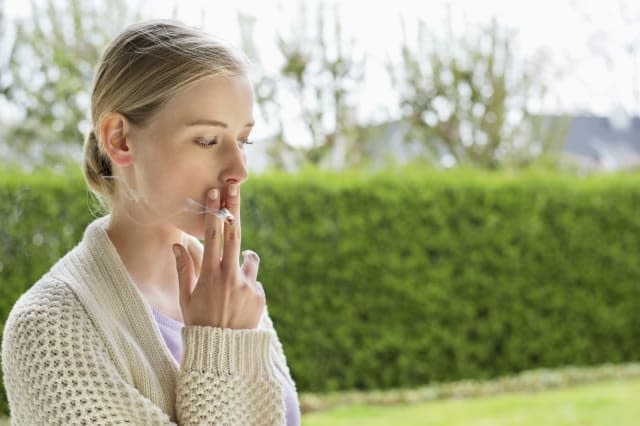
[[[77,175],[0,175],[0,197],[4,325],[92,203]],[[637,206],[637,175],[270,174],[243,186],[243,247],[299,390],[419,386],[640,360]]]

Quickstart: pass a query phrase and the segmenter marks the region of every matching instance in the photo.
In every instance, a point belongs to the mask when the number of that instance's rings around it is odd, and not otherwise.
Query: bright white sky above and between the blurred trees
[[[92,1],[92,0],[87,0]],[[314,10],[317,1],[305,4]],[[494,17],[516,34],[521,58],[545,55],[551,67],[545,78],[549,96],[535,107],[551,113],[591,113],[612,116],[640,113],[640,2],[630,0],[433,0],[365,2],[325,1],[336,5],[343,29],[367,53],[366,86],[358,93],[365,120],[381,121],[397,113],[396,94],[385,61],[397,55],[402,39],[401,19],[412,34],[417,19],[440,31],[447,10],[454,31],[464,33],[473,23]],[[626,4],[626,10],[620,9]],[[256,45],[265,69],[277,69],[281,58],[277,33],[289,34],[296,22],[297,1],[282,0],[139,0],[143,16],[177,18],[239,43],[237,15],[255,18]],[[177,5],[177,6],[176,6]],[[29,2],[5,0],[9,19],[29,14]],[[625,45],[627,50],[625,50]],[[631,50],[635,48],[635,52]],[[635,53],[635,55],[634,55]],[[292,117],[295,112],[289,112]],[[288,113],[285,113],[288,114]]]

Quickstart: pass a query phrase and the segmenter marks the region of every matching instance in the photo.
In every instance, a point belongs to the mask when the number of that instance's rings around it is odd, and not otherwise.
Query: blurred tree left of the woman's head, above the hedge
[[[137,18],[125,0],[31,1],[31,15],[16,22],[7,88],[8,100],[24,113],[6,139],[23,168],[79,159],[100,53]]]

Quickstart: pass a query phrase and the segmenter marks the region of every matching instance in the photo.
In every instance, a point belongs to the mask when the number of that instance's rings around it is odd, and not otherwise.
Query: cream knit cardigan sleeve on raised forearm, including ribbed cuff
[[[186,326],[177,380],[182,424],[284,425],[284,389],[273,371],[272,330]]]

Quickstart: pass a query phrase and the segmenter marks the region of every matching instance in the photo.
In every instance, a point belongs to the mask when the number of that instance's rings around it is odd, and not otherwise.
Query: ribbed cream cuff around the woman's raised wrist
[[[209,326],[182,328],[182,371],[210,371],[217,375],[275,376],[270,345],[273,330]]]

